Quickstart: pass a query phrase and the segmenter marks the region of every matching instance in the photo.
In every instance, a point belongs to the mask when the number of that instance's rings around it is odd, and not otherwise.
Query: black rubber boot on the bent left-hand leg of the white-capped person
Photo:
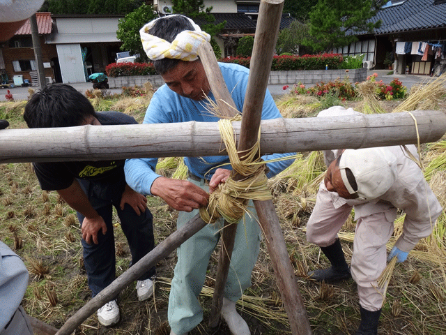
[[[350,268],[342,251],[341,241],[337,239],[331,246],[321,246],[321,250],[332,264],[328,269],[309,271],[308,276],[315,281],[335,283],[351,278]]]

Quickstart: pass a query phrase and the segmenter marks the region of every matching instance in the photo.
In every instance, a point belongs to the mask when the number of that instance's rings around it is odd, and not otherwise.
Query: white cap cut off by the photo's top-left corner
[[[44,0],[0,0],[0,22],[26,20],[42,7]]]

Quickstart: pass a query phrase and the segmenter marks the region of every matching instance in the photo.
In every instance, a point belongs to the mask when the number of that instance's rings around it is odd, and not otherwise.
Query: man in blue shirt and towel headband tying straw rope
[[[165,84],[157,89],[148,106],[144,124],[173,122],[217,122],[218,118],[206,110],[206,96],[215,101],[213,92],[197,55],[197,48],[210,36],[189,18],[182,15],[160,17],[146,24],[140,31],[144,50],[153,60],[155,69]],[[219,64],[226,87],[231,92],[238,110],[243,110],[249,70],[237,64]],[[282,117],[267,91],[262,119]],[[291,154],[263,156],[265,161]],[[187,181],[169,179],[155,173],[157,158],[130,159],[125,163],[125,176],[135,191],[156,195],[169,206],[180,211],[177,228],[193,218],[199,207],[208,202],[208,191],[224,182],[230,170],[218,168],[229,163],[227,156],[185,157],[189,170]],[[267,163],[268,177],[282,171],[292,160]],[[212,178],[212,179],[211,179]],[[222,317],[232,334],[249,335],[247,323],[236,311],[236,301],[251,285],[251,272],[259,255],[261,230],[252,215],[240,221],[233,247],[231,266],[224,289]],[[222,220],[207,225],[178,248],[178,262],[169,295],[169,325],[171,335],[187,334],[203,320],[198,296],[206,278],[206,269],[220,239]]]

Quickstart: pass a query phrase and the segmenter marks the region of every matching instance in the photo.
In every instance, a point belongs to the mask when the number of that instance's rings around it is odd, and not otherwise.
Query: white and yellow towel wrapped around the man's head
[[[162,20],[164,17],[158,17],[151,22],[148,22],[139,30],[141,35],[141,42],[147,57],[153,61],[163,58],[180,59],[182,61],[195,61],[198,59],[198,47],[204,41],[210,41],[210,35],[206,31],[201,31],[200,27],[194,21],[186,17],[194,27],[194,31],[181,31],[172,43],[167,42],[162,38],[148,34],[148,31],[153,27],[157,20]]]

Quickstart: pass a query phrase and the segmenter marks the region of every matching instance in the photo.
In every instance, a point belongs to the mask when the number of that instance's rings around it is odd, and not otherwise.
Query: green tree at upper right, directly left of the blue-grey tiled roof
[[[355,34],[380,27],[380,21],[370,20],[380,7],[379,0],[319,0],[309,13],[311,38],[303,44],[321,52],[355,42]]]

